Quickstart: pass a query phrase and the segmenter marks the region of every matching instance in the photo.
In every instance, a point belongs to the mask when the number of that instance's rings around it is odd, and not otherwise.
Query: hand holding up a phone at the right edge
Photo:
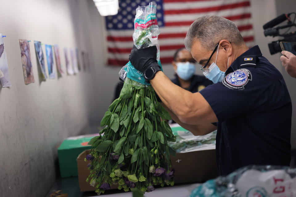
[[[281,61],[282,65],[285,67],[287,73],[296,78],[296,56],[286,50],[282,51]]]

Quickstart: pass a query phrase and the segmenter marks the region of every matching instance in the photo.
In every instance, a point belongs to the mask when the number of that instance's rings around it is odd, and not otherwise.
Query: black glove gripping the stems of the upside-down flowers
[[[136,46],[133,46],[129,59],[135,69],[144,72],[149,67],[159,66],[156,60],[156,53],[156,46],[150,46],[145,49],[137,49]]]

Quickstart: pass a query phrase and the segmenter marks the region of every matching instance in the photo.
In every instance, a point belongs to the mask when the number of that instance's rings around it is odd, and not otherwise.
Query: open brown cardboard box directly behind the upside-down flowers
[[[90,161],[84,161],[89,151],[83,151],[77,158],[80,191],[95,190],[85,181],[90,174],[90,170],[87,168]],[[171,156],[171,162],[172,168],[175,169],[175,183],[203,183],[218,176],[215,149],[177,153],[175,157]],[[111,189],[116,188],[115,185],[111,186]]]

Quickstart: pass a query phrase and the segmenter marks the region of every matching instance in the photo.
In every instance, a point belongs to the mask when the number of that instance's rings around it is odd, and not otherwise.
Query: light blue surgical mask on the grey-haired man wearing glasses
[[[217,62],[218,52],[219,52],[219,45],[218,45],[218,50],[216,55],[216,62]],[[229,57],[228,57],[228,60],[229,60]],[[227,60],[227,68],[228,68],[228,60]],[[225,72],[220,70],[216,62],[215,63],[213,62],[211,64],[211,66],[209,67],[209,72],[208,71],[203,72],[204,76],[209,80],[211,80],[213,83],[222,82],[223,78],[225,77]]]

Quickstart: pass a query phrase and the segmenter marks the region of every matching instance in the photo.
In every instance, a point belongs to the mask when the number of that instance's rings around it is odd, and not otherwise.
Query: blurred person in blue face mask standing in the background
[[[195,63],[195,59],[186,48],[178,49],[175,52],[174,61],[172,61],[176,78],[171,81],[192,93],[198,92],[212,84],[204,76],[195,75]]]

